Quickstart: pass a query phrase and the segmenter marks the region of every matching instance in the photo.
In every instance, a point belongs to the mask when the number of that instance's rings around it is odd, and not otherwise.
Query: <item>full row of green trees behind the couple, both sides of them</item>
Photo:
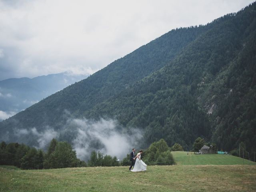
[[[178,145],[178,149],[182,149],[179,144],[175,145]],[[172,148],[161,139],[158,142],[153,142],[148,149],[144,150],[142,158],[149,165],[172,165],[175,163],[171,151]],[[116,156],[104,155],[102,152],[94,150],[86,163],[77,158],[76,151],[73,150],[68,142],[60,142],[55,138],[51,140],[46,152],[25,144],[6,144],[4,141],[0,144],[0,165],[12,165],[22,169],[126,166],[130,165],[130,163],[130,154],[127,154],[126,158],[119,162]]]

